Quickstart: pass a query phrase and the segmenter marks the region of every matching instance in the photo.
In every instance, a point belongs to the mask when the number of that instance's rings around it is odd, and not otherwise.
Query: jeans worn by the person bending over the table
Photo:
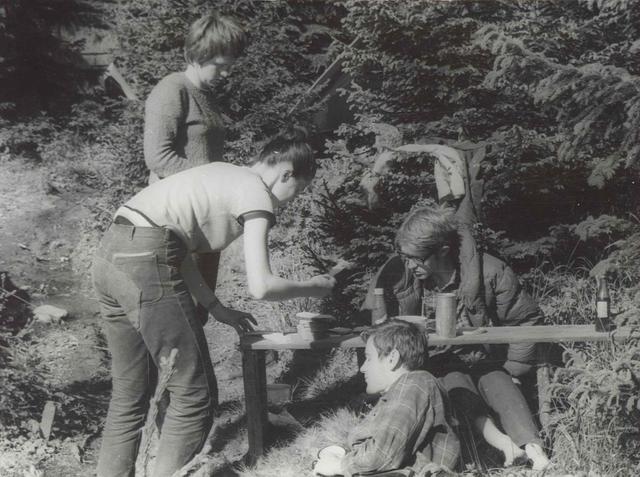
[[[177,349],[152,475],[172,475],[204,445],[217,385],[202,324],[180,275],[187,251],[165,228],[112,224],[92,275],[111,353],[112,396],[97,473],[133,476],[160,359]]]

